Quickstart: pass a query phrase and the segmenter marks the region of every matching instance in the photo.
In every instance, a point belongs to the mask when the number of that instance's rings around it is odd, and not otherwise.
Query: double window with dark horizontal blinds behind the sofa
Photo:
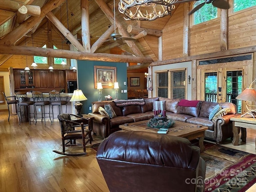
[[[187,98],[186,69],[156,71],[156,96],[164,98]]]

